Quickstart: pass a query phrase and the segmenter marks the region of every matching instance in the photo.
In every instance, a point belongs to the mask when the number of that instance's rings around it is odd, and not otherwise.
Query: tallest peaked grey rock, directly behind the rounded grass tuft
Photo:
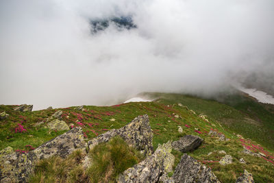
[[[97,136],[97,138],[93,138],[91,141],[88,141],[88,147],[92,149],[99,143],[110,141],[110,138],[114,136],[121,136],[128,145],[142,151],[145,155],[153,153],[153,132],[149,125],[147,114],[136,117],[131,123],[120,129],[113,129]]]

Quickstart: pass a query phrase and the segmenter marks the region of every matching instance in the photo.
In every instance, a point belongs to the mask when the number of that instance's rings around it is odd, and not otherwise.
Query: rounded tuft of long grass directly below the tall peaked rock
[[[115,182],[115,178],[142,160],[133,147],[129,147],[119,136],[108,143],[101,143],[90,151],[92,165],[88,169],[90,182]]]

